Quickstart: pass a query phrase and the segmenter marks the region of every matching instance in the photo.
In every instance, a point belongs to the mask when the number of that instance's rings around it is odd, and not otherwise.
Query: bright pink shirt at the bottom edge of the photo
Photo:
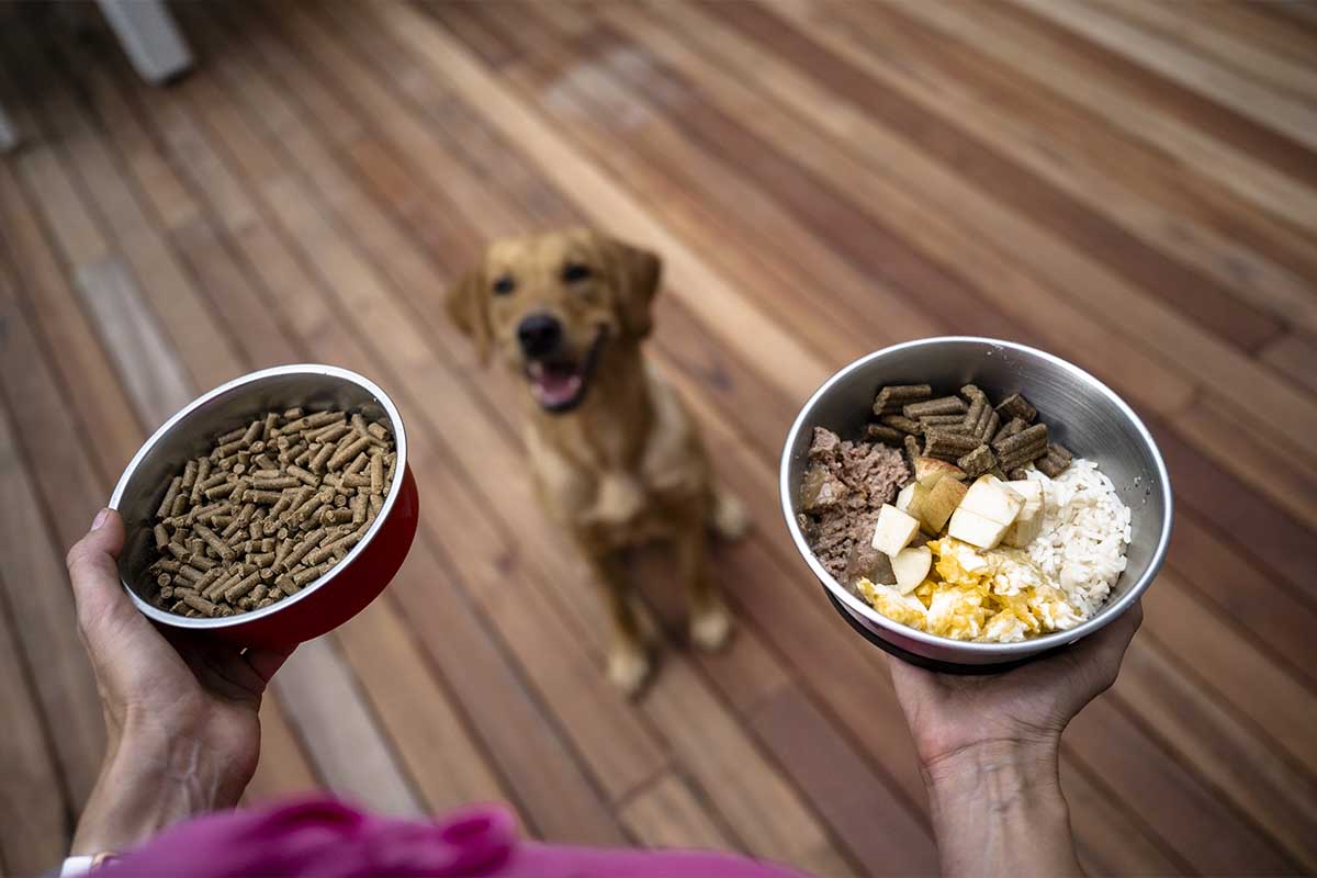
[[[511,813],[499,806],[473,806],[441,820],[423,821],[381,817],[328,798],[190,820],[113,861],[103,874],[108,878],[801,878],[801,873],[782,866],[719,853],[605,850],[518,841]]]

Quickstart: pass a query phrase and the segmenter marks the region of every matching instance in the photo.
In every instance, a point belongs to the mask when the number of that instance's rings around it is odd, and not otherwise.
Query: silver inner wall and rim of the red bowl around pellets
[[[124,525],[128,530],[128,544],[119,557],[119,575],[150,616],[171,623],[176,620],[179,624],[186,621],[187,627],[207,628],[236,624],[253,617],[254,613],[240,613],[224,619],[184,620],[171,613],[162,613],[150,604],[154,583],[150,582],[146,569],[155,559],[155,542],[151,536],[155,511],[159,508],[174,475],[182,473],[183,465],[190,458],[209,452],[215,437],[238,426],[246,426],[267,411],[282,412],[287,408],[302,407],[307,412],[316,412],[336,408],[361,412],[367,421],[378,420],[387,425],[398,442],[399,475],[394,479],[390,496],[386,498],[385,512],[375,521],[375,527],[366,534],[366,538],[354,548],[354,552],[369,541],[374,529],[387,515],[392,496],[396,495],[402,483],[406,446],[400,437],[399,424],[389,411],[390,407],[386,407],[385,401],[367,386],[348,378],[348,374],[338,374],[340,371],[328,367],[306,367],[299,371],[275,369],[238,379],[212,391],[205,398],[192,403],[190,408],[175,415],[162,428],[162,432],[138,452],[138,457],[129,465],[130,473],[126,480],[121,480],[115,492],[117,502],[112,502],[112,505],[124,517]],[[331,575],[333,571],[299,592],[296,598],[312,591],[315,586]],[[281,606],[283,602],[266,608],[266,611],[278,609]]]

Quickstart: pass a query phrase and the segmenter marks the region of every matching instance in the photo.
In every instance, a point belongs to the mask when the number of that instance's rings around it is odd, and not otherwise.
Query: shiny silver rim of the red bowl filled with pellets
[[[119,477],[119,483],[115,486],[115,492],[109,498],[109,508],[116,511],[119,509],[119,504],[122,500],[124,491],[128,488],[128,483],[132,480],[133,474],[137,471],[137,467],[141,465],[141,462],[146,458],[146,455],[151,452],[151,449],[154,449],[155,445],[161,440],[163,440],[165,436],[170,433],[170,430],[173,430],[175,426],[186,421],[188,416],[191,416],[195,411],[204,407],[215,398],[221,396],[229,391],[244,387],[245,384],[253,384],[258,380],[263,380],[266,378],[275,378],[279,375],[324,375],[350,382],[353,384],[357,384],[362,390],[367,391],[369,394],[371,394],[379,401],[379,405],[385,409],[385,412],[387,412],[390,425],[392,426],[394,430],[394,444],[395,444],[394,450],[398,455],[398,462],[394,467],[394,482],[391,486],[389,486],[389,494],[387,496],[385,496],[385,503],[379,509],[379,515],[375,516],[375,520],[366,530],[366,536],[358,540],[357,545],[354,545],[348,552],[348,554],[344,555],[342,561],[336,563],[332,570],[329,570],[327,574],[324,574],[311,584],[302,588],[302,591],[292,595],[291,598],[284,598],[283,600],[270,604],[263,609],[250,609],[248,612],[234,613],[232,616],[221,616],[221,617],[192,619],[188,616],[178,616],[175,613],[158,609],[150,603],[142,600],[137,595],[137,592],[133,591],[132,586],[129,586],[129,583],[124,579],[122,574],[120,574],[119,578],[120,584],[128,592],[128,596],[132,598],[133,603],[137,606],[137,609],[140,609],[146,617],[163,623],[166,625],[171,625],[174,628],[188,628],[188,629],[202,631],[202,629],[216,629],[216,628],[233,628],[237,625],[245,625],[248,623],[253,623],[273,616],[277,612],[286,609],[287,607],[300,600],[304,600],[311,594],[319,591],[325,584],[328,584],[337,574],[346,570],[352,565],[353,559],[358,554],[361,554],[367,545],[370,545],[370,541],[375,537],[377,533],[379,533],[381,528],[385,524],[385,520],[392,511],[394,504],[398,500],[399,494],[402,492],[407,469],[407,428],[403,425],[402,415],[398,412],[398,407],[394,404],[394,400],[375,382],[349,369],[342,369],[340,366],[331,366],[328,363],[290,363],[286,366],[273,366],[270,369],[261,369],[253,373],[248,373],[245,375],[240,375],[233,380],[225,382],[219,387],[207,391],[205,394],[202,394],[191,403],[180,408],[178,412],[175,412],[173,416],[170,416],[167,421],[161,424],[161,426],[154,433],[151,433],[151,437],[149,440],[142,442],[141,448],[138,448],[137,453],[133,455],[133,459],[128,462],[126,467],[124,467],[122,475]]]

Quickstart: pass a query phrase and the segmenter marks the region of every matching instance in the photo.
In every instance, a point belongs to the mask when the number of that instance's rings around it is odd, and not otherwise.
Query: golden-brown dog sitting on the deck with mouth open
[[[741,504],[714,480],[694,419],[641,344],[660,263],[586,229],[498,241],[448,294],[482,362],[525,383],[525,448],[544,508],[589,559],[612,625],[608,679],[628,695],[649,654],[622,550],[672,540],[690,640],[716,649],[731,620],[705,562],[705,529],[736,538]]]

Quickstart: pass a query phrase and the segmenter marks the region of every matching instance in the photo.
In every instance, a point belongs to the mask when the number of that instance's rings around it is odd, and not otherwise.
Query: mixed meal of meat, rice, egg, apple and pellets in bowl
[[[1131,513],[1021,395],[881,388],[857,441],[815,428],[798,524],[832,577],[930,634],[1017,642],[1093,617]],[[902,449],[903,454],[901,450]]]

